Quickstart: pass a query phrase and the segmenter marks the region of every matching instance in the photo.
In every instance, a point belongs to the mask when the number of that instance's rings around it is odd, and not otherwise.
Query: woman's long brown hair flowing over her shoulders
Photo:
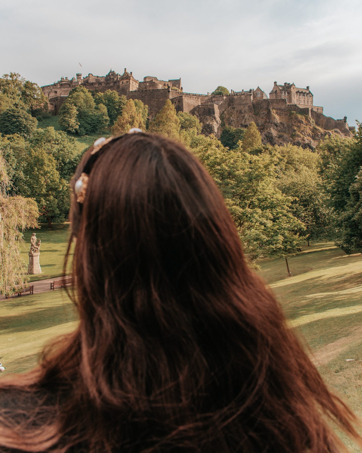
[[[222,196],[185,148],[143,133],[110,141],[71,221],[79,327],[36,370],[1,382],[10,403],[0,445],[342,451],[329,419],[359,439],[355,416],[249,269]]]

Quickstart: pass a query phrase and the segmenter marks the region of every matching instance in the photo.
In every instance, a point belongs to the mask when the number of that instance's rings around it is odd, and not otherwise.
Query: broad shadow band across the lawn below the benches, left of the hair
[[[72,305],[47,307],[17,315],[1,318],[0,333],[17,333],[31,330],[43,330],[75,321],[76,312]]]

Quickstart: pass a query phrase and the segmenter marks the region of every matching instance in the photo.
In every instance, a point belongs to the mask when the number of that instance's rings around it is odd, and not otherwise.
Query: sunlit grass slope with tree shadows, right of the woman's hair
[[[322,241],[288,262],[291,277],[284,260],[262,260],[259,274],[309,345],[324,381],[362,416],[362,256]],[[341,437],[353,452],[361,451]]]

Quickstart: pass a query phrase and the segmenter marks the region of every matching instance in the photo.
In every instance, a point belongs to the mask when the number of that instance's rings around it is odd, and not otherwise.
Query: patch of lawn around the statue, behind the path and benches
[[[37,239],[42,241],[39,256],[42,273],[31,276],[30,281],[44,280],[63,275],[63,261],[68,246],[70,224],[53,223],[52,225],[52,228],[48,228],[48,223],[43,223],[41,224],[40,229],[27,230],[24,232],[24,243],[20,247],[20,251],[26,264],[29,263],[28,252],[32,233],[36,233]],[[68,270],[70,270],[70,266],[68,266]]]

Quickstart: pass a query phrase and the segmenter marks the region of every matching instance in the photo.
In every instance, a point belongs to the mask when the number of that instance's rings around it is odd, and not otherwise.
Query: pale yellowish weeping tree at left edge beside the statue
[[[38,207],[34,200],[9,196],[7,163],[0,152],[0,293],[13,294],[27,279],[19,245],[25,228],[38,226]]]

